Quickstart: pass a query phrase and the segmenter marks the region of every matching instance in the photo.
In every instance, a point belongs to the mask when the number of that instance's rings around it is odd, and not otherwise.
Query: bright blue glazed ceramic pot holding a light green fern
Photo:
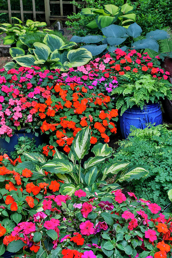
[[[120,117],[122,137],[126,139],[130,133],[130,127],[144,129],[147,123],[163,124],[163,115],[159,103],[148,103],[143,110],[140,107],[128,108]]]

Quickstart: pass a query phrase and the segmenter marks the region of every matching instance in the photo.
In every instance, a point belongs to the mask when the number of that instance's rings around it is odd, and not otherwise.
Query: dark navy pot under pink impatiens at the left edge
[[[14,135],[10,137],[10,142],[6,142],[5,138],[1,138],[0,137],[0,148],[1,149],[5,149],[7,151],[7,154],[10,155],[11,151],[14,151],[14,145],[16,145],[18,143],[18,138],[21,136],[28,136],[29,138],[35,138],[36,142],[36,146],[38,147],[39,144],[43,144],[47,142],[47,137],[40,133],[40,131],[38,131],[38,137],[35,136],[35,134],[33,134],[32,132],[28,133],[26,132],[26,129],[20,129],[19,131],[16,130]]]

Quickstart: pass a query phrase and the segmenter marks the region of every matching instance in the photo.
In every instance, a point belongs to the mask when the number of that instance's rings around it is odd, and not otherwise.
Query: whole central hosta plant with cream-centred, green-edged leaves
[[[50,172],[57,179],[64,181],[60,193],[70,196],[77,189],[84,189],[89,193],[121,189],[122,186],[118,183],[140,179],[140,177],[145,177],[148,174],[148,171],[143,167],[134,166],[128,161],[116,161],[105,166],[102,170],[97,169],[98,165],[104,163],[112,155],[112,148],[108,144],[99,143],[95,145],[91,150],[94,157],[83,163],[82,159],[90,149],[90,139],[91,130],[89,127],[85,127],[76,134],[68,157],[56,149],[53,159],[45,162],[42,155],[24,153],[30,161],[19,163],[17,168],[27,167],[38,178],[40,178],[40,175],[44,177],[44,171]],[[83,163],[83,166],[81,166],[81,163]],[[114,175],[116,175],[115,182],[107,184],[107,178]]]

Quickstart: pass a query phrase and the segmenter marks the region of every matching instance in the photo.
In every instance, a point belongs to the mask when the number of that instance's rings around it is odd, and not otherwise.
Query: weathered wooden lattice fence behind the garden
[[[17,0],[16,0],[17,1]],[[21,20],[24,21],[24,13],[33,13],[33,20],[36,21],[36,14],[45,14],[45,20],[47,26],[50,26],[50,20],[66,20],[67,16],[63,15],[63,5],[70,4],[70,1],[51,1],[51,0],[44,0],[45,4],[45,11],[36,11],[35,9],[35,0],[32,0],[32,11],[24,11],[23,10],[23,1],[20,1],[20,10],[11,10],[10,0],[8,2],[8,10],[0,10],[0,13],[8,13],[9,14],[9,22],[11,23],[11,13],[20,13]],[[84,4],[83,1],[79,1],[77,3]],[[60,4],[60,15],[51,15],[51,4]],[[76,7],[73,5],[73,13],[76,13]]]

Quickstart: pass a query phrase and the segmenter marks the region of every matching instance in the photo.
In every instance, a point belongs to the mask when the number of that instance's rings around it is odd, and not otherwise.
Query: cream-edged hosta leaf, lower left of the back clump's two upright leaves
[[[36,58],[38,60],[42,59],[42,60],[46,61],[51,52],[49,46],[47,46],[46,44],[42,44],[40,42],[35,42],[34,47],[35,47],[35,49],[33,49],[33,51],[34,51]]]

